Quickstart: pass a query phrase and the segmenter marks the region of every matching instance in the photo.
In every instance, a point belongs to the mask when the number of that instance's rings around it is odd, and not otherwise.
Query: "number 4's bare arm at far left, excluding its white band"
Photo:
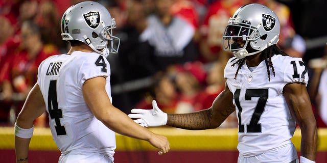
[[[16,125],[23,129],[33,127],[33,121],[45,112],[45,104],[39,86],[36,84],[19,113]],[[28,162],[28,150],[31,139],[15,136],[16,160],[18,163]]]

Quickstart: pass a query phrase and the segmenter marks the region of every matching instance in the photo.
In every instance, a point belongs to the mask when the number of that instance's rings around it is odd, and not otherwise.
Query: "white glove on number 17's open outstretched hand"
[[[167,113],[160,110],[155,100],[152,101],[152,110],[133,108],[129,118],[137,118],[134,122],[143,127],[155,127],[167,124]]]

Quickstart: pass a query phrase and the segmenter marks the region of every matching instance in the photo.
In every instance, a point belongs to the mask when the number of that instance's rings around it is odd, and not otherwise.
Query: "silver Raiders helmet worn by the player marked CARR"
[[[112,35],[114,18],[101,4],[85,1],[69,7],[61,18],[63,40],[84,42],[96,52],[108,56],[117,53],[120,39]],[[107,44],[109,46],[107,47]]]

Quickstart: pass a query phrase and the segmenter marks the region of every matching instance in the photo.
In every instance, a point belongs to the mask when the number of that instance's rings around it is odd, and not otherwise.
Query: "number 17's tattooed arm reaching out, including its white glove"
[[[169,125],[172,127],[200,130],[217,128],[220,124],[235,111],[232,103],[233,94],[227,85],[213,102],[213,105],[206,110],[186,114],[169,114],[162,112],[155,101],[152,102],[152,110],[134,108],[131,110],[130,118],[135,118],[136,123],[145,127]]]

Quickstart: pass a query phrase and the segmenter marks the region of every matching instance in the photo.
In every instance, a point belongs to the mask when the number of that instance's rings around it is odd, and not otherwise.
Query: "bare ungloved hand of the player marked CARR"
[[[158,152],[159,155],[166,154],[170,149],[168,139],[159,134],[153,133],[153,136],[149,139],[149,143],[152,146],[161,149]]]

